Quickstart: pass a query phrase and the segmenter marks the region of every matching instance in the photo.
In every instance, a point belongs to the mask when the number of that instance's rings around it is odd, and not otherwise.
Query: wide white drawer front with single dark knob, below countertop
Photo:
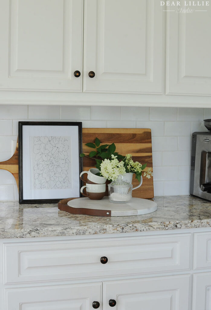
[[[4,243],[4,283],[189,268],[190,234],[61,242]],[[102,264],[102,256],[108,262]]]

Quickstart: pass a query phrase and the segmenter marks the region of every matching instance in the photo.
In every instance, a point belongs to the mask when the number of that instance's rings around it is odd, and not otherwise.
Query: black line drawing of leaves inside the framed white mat
[[[31,160],[34,189],[67,189],[71,187],[70,137],[33,136]]]

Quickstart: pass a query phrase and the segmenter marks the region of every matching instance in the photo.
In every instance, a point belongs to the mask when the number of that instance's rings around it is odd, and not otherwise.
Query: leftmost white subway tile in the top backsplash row
[[[0,105],[0,119],[28,118],[28,105]]]

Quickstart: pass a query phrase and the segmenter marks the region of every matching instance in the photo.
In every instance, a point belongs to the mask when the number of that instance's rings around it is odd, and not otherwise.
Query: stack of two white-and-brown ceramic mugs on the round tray
[[[106,193],[106,178],[96,175],[98,172],[100,170],[97,168],[90,168],[88,171],[82,171],[80,174],[80,179],[86,182],[86,185],[82,186],[80,192],[83,196],[92,200],[101,200]],[[87,173],[87,181],[82,179],[82,175],[85,173]],[[87,194],[84,193],[85,188]]]

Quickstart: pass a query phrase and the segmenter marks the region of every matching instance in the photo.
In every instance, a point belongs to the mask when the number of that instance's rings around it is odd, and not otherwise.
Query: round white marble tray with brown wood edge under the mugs
[[[112,203],[108,197],[102,200],[91,200],[87,197],[63,199],[58,208],[72,214],[97,216],[130,216],[152,213],[157,210],[157,203],[143,198],[132,198],[128,203]]]

